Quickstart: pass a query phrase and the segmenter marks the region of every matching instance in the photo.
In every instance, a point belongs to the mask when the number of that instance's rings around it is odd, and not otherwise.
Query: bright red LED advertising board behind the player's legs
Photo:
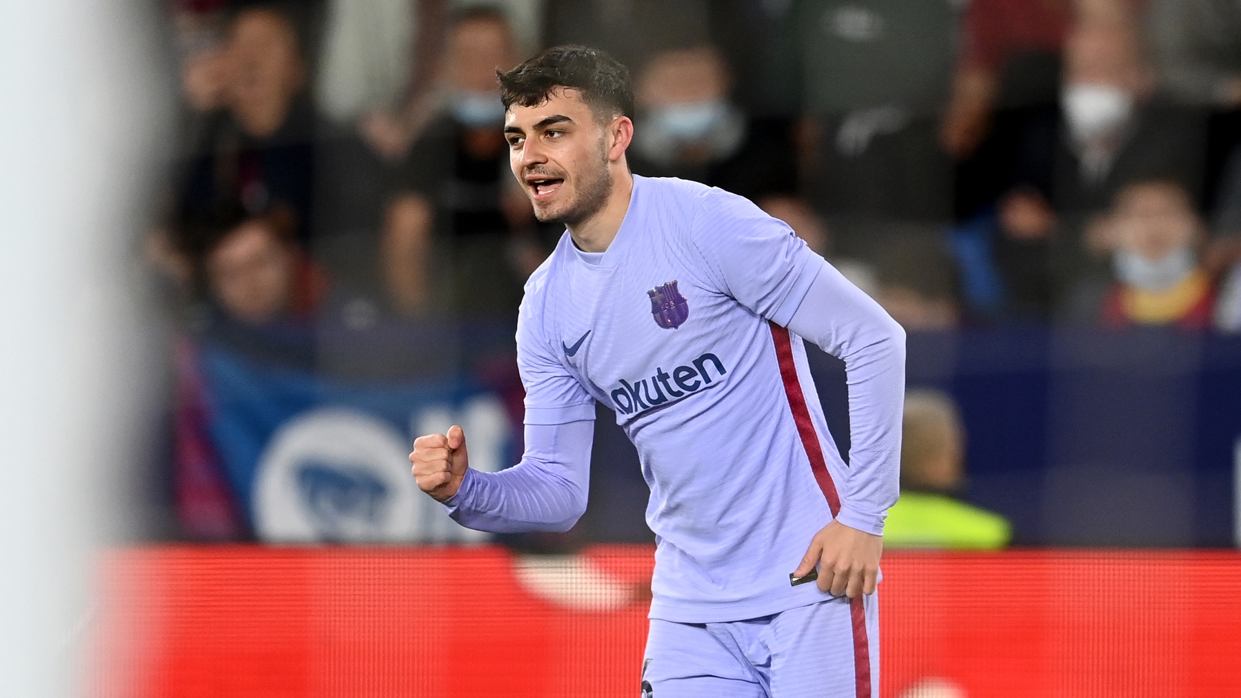
[[[635,698],[653,550],[172,547],[102,564],[105,697]],[[1241,554],[889,552],[880,696],[1241,696]]]

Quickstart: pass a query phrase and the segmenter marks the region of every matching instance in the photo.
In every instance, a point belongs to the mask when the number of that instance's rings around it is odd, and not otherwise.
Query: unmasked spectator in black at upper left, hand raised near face
[[[254,216],[287,208],[295,242],[330,273],[341,299],[374,309],[382,298],[375,286],[386,172],[354,124],[316,114],[308,92],[308,25],[307,7],[297,2],[247,2],[232,11],[221,48],[222,107],[197,133],[172,218],[210,218],[237,201]],[[185,263],[168,253],[172,247],[159,236],[149,245],[159,267],[184,276]]]

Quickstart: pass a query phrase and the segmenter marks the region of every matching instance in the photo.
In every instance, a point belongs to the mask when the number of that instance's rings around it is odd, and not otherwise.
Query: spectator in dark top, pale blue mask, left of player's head
[[[509,174],[496,69],[516,63],[505,16],[457,15],[448,35],[447,107],[411,148],[387,210],[388,299],[406,315],[432,309],[509,316],[542,262],[530,205]]]

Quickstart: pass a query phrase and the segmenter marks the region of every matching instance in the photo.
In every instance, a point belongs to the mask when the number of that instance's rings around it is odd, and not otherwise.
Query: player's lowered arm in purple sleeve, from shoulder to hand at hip
[[[874,593],[884,519],[896,503],[905,331],[874,299],[812,252],[783,222],[717,190],[692,226],[694,247],[721,290],[845,362],[850,457],[840,511],[794,572],[819,568],[819,588]]]

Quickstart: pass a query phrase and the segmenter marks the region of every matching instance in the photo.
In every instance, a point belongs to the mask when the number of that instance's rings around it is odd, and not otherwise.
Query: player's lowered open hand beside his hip
[[[875,593],[882,553],[882,536],[871,536],[833,521],[810,539],[810,548],[793,575],[805,577],[818,564],[820,590],[854,599],[859,594]]]

